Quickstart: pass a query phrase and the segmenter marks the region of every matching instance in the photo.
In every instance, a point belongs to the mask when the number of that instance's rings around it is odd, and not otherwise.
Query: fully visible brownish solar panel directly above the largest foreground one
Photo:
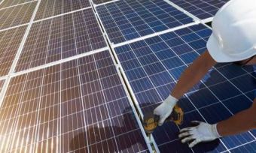
[[[23,71],[106,46],[93,10],[34,23],[17,63]]]

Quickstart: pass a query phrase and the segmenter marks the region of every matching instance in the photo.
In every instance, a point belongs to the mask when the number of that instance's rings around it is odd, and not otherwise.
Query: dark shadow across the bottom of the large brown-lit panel
[[[139,134],[136,134],[133,139],[130,139],[129,135],[133,133],[123,133],[123,131],[138,128],[133,110],[131,107],[126,107],[126,109],[123,110],[123,119],[119,124],[105,127],[98,127],[96,124],[90,125],[87,127],[86,132],[81,132],[70,140],[69,148],[70,151],[81,151],[81,148],[84,148],[84,151],[87,151],[87,147],[90,148],[90,151],[92,152],[102,152],[102,150],[106,152],[127,151],[129,148],[133,148],[133,145],[145,144],[145,140],[142,139]],[[113,131],[118,131],[120,134],[113,136]],[[89,137],[88,141],[86,140],[86,137]],[[101,142],[102,137],[106,139]]]

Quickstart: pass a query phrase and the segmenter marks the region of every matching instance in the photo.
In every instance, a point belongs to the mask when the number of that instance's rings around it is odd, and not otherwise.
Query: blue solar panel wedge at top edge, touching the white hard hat
[[[169,0],[179,7],[192,13],[200,20],[213,17],[215,13],[229,0]]]

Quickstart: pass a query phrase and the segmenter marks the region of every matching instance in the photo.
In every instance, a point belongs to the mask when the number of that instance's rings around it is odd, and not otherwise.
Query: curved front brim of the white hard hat
[[[218,62],[218,63],[224,63],[224,62],[236,62],[241,59],[230,57],[229,55],[226,55],[224,51],[221,49],[221,46],[218,43],[218,40],[216,39],[214,34],[211,34],[209,37],[209,40],[206,43],[207,49],[209,51],[209,54],[212,56],[212,58]]]

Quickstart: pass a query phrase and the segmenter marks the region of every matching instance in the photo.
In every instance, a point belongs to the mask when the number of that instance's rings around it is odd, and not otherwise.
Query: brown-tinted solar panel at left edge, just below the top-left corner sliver
[[[29,23],[37,1],[0,10],[0,29]]]

